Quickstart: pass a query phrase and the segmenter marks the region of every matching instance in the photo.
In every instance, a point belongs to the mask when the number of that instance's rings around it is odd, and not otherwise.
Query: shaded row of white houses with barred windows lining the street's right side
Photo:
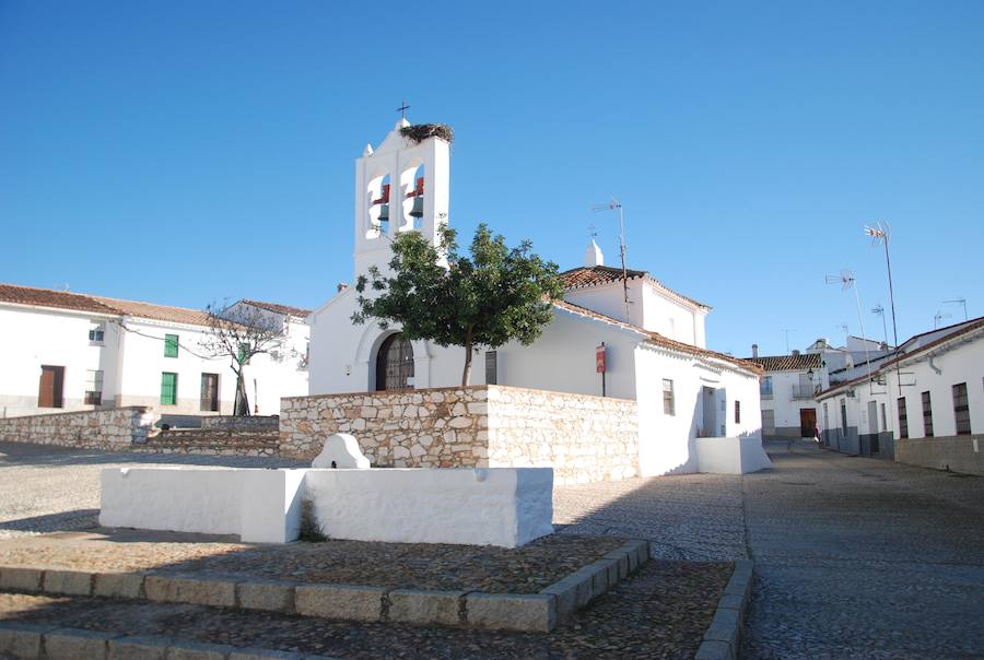
[[[984,474],[984,318],[909,339],[818,394],[823,441],[839,451]]]

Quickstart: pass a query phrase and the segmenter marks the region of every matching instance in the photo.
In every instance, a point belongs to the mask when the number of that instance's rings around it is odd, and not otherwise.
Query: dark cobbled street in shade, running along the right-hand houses
[[[770,447],[746,658],[984,657],[984,479]]]

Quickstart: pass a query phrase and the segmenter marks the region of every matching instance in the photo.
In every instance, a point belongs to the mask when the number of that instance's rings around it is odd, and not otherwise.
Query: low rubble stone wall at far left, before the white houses
[[[0,419],[0,441],[126,449],[147,440],[153,415],[141,405]]]

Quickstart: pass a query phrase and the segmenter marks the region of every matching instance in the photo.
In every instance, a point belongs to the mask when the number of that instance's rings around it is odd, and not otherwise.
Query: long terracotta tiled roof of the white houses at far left
[[[166,305],[154,305],[153,303],[140,303],[137,300],[120,300],[68,291],[17,286],[15,284],[0,284],[0,302],[114,316],[133,316],[192,326],[208,325],[208,315],[198,309],[168,307]]]

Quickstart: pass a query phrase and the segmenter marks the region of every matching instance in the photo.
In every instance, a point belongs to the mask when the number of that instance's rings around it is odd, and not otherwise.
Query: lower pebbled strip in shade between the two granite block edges
[[[727,563],[651,562],[551,634],[356,624],[199,605],[0,594],[0,620],[337,658],[692,658]]]

